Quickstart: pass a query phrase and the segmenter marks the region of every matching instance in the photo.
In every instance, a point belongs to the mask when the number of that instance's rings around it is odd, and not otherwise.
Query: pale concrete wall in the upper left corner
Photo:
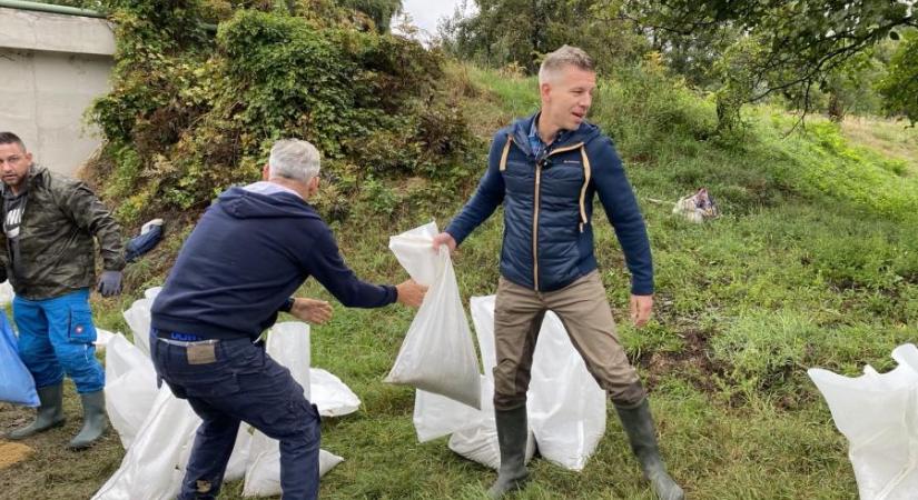
[[[101,19],[0,8],[0,130],[48,168],[72,174],[100,139],[83,112],[109,91],[115,37]]]

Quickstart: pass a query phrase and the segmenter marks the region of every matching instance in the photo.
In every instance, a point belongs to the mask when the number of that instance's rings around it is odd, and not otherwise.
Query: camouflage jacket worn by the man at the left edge
[[[0,278],[9,279],[17,294],[30,299],[50,299],[96,281],[95,241],[99,239],[103,268],[125,268],[121,230],[109,210],[83,182],[51,173],[33,164],[26,180],[29,191],[19,227],[22,276],[8,266],[10,243],[0,231]],[[9,189],[2,186],[3,191]],[[0,200],[0,221],[6,207]],[[1,280],[0,280],[1,281]]]

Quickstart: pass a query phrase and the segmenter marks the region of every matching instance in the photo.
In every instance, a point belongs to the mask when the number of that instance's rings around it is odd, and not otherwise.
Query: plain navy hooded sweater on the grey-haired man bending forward
[[[328,226],[293,193],[230,188],[201,217],[152,304],[152,328],[209,339],[257,338],[308,277],[346,307],[395,301],[395,287],[363,282]]]

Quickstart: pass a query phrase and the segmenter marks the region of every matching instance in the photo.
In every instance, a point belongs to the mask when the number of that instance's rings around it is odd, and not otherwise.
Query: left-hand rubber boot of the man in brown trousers
[[[523,488],[529,479],[526,406],[506,411],[495,410],[494,419],[497,423],[497,443],[501,446],[501,469],[494,486],[487,490],[487,496],[499,499]]]

